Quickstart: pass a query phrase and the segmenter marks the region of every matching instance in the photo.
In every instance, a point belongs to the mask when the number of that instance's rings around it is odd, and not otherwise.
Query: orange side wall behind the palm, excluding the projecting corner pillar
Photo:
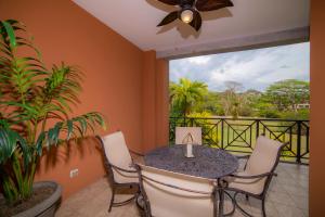
[[[79,65],[86,78],[82,103],[75,114],[102,112],[108,120],[108,130],[102,133],[120,129],[129,148],[142,150],[143,51],[69,0],[0,0],[0,18],[25,23],[48,66],[61,61]],[[91,140],[81,150],[73,148],[68,158],[64,149],[57,155],[55,165],[42,164],[37,179],[58,181],[64,196],[104,175],[100,152]],[[73,168],[79,168],[79,176],[70,179]]]

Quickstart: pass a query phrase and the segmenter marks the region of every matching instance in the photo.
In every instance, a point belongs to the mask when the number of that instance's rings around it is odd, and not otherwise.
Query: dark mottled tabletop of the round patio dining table
[[[207,145],[193,145],[194,157],[185,157],[186,145],[158,148],[144,156],[147,166],[190,176],[219,179],[235,173],[238,159],[231,153]]]

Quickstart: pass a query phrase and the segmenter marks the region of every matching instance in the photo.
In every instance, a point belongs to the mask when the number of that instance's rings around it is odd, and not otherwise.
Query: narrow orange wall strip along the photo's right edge
[[[310,216],[325,216],[325,2],[311,0]]]

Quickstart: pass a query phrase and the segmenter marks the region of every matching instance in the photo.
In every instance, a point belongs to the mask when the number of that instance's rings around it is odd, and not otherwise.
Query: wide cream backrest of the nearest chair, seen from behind
[[[146,212],[157,217],[212,217],[214,180],[138,165]],[[151,216],[150,215],[150,216]]]

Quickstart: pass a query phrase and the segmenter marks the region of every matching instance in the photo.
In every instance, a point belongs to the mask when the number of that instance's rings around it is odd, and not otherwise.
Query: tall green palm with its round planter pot
[[[77,67],[62,63],[48,69],[25,26],[0,22],[0,216],[53,216],[61,187],[34,182],[44,149],[105,123],[96,112],[69,116],[81,90]],[[35,192],[47,195],[32,204]]]

